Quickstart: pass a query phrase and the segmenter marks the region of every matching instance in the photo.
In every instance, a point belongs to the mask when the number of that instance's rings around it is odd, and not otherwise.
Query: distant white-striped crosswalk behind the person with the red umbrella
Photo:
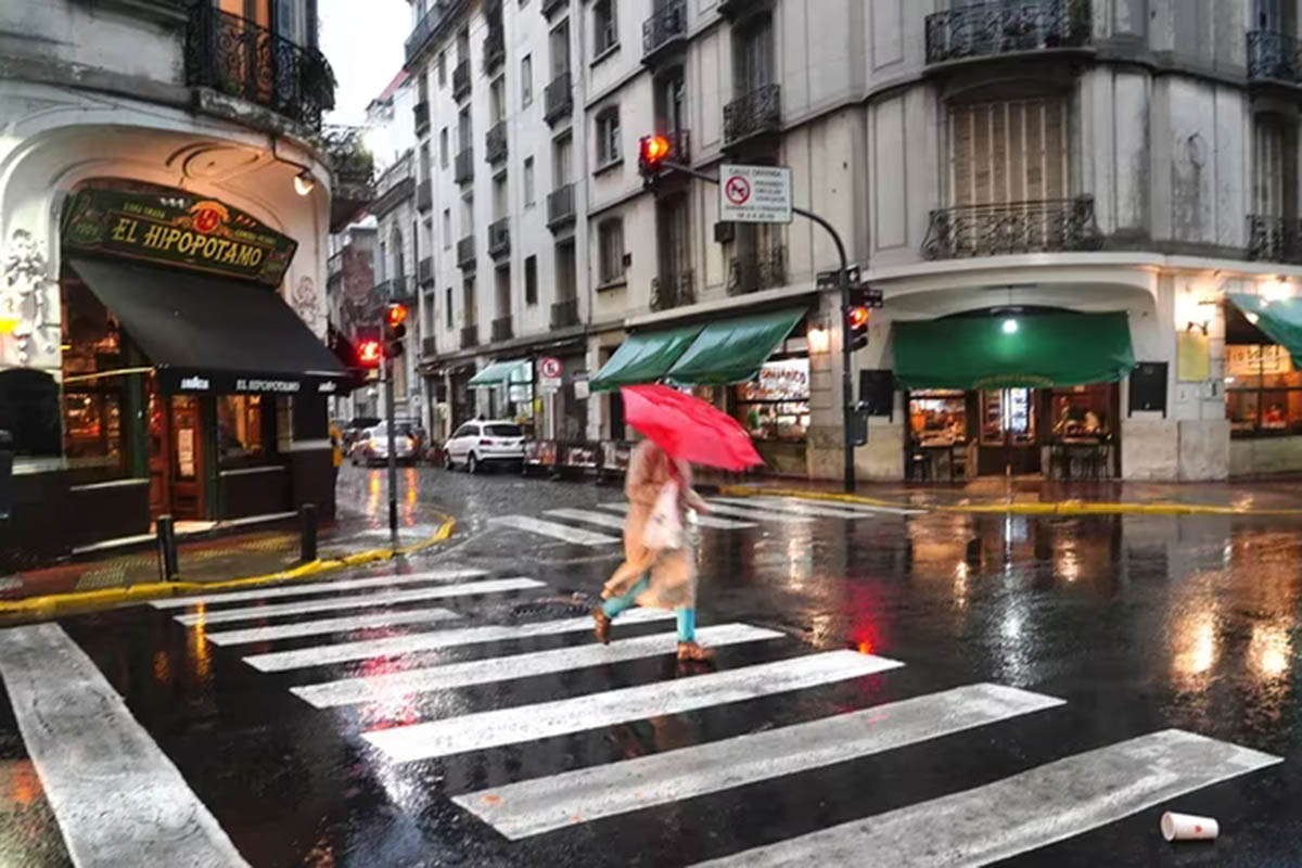
[[[710,505],[711,514],[697,515],[697,524],[717,531],[753,530],[766,524],[802,526],[819,518],[880,519],[915,515],[922,511],[872,504],[814,502],[797,497],[711,497],[706,502]],[[598,509],[556,508],[546,510],[543,513],[546,518],[500,515],[490,519],[490,524],[573,545],[604,547],[621,541],[618,535],[603,531],[622,531],[624,519],[618,514],[628,513],[628,510],[626,502],[600,504]],[[594,527],[602,530],[592,530]]]

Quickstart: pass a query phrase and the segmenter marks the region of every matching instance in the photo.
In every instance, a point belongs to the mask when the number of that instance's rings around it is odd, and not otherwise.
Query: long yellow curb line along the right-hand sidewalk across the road
[[[859,497],[842,492],[809,491],[802,488],[762,488],[756,485],[720,485],[728,497],[801,497],[803,500],[840,501],[866,506],[894,509],[924,509],[935,513],[993,513],[1012,515],[1279,515],[1298,517],[1302,509],[1251,509],[1245,506],[1215,506],[1210,504],[1177,504],[1160,501],[1134,504],[1124,501],[1006,501],[976,504],[910,504]]]

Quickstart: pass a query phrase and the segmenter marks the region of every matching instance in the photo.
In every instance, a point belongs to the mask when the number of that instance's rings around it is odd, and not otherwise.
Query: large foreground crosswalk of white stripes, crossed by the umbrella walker
[[[322,722],[358,727],[361,739],[374,748],[375,761],[397,774],[415,768],[408,764],[521,751],[547,739],[578,738],[639,721],[723,713],[740,703],[790,699],[796,705],[796,698],[809,691],[870,677],[892,678],[906,666],[906,661],[852,649],[801,649],[779,631],[737,622],[698,631],[704,644],[720,649],[716,669],[669,675],[638,666],[672,657],[672,613],[626,613],[608,645],[582,640],[579,634],[591,630],[589,617],[484,621],[501,610],[491,605],[495,600],[543,592],[548,592],[544,583],[526,576],[495,578],[449,569],[203,595],[155,608],[186,630],[229,625],[207,638],[229,647],[247,665],[250,677],[275,679],[272,683],[301,700],[307,713],[362,712],[323,717]],[[296,596],[306,600],[283,603]],[[437,600],[440,608],[431,608],[430,600]],[[406,603],[418,608],[392,608]],[[376,612],[381,608],[384,612]],[[376,629],[380,635],[372,635]],[[458,653],[445,657],[449,651]],[[736,660],[742,662],[733,665]],[[638,674],[630,677],[634,671]],[[661,674],[648,675],[651,671]],[[579,673],[604,675],[569,678]],[[493,690],[475,694],[479,703],[471,704],[395,701],[544,681],[548,687],[542,698],[538,691]],[[595,687],[598,682],[604,686]],[[365,713],[396,704],[418,711],[398,721],[372,721]],[[911,746],[963,739],[974,730],[1023,717],[1055,714],[1070,725],[1072,711],[1062,699],[993,683],[947,685],[936,692],[866,708],[816,708],[822,711],[779,726],[756,720],[742,734],[711,737],[703,727],[694,730],[689,743],[643,756],[546,773],[534,766],[521,773],[517,766],[510,780],[469,781],[460,790],[453,786],[448,795],[504,838],[521,841],[634,817],[687,799],[730,798],[742,787]],[[984,865],[1279,761],[1193,733],[1161,730],[750,850],[707,851],[715,861],[704,864]],[[708,825],[710,819],[700,822]]]

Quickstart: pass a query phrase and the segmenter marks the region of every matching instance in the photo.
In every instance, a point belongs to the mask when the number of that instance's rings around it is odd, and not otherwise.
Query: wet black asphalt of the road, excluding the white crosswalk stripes
[[[448,547],[409,571],[456,565],[547,588],[439,601],[470,625],[575,617],[617,547],[493,527],[506,515],[620,498],[591,483],[405,472],[418,505],[458,515]],[[414,488],[413,488],[414,485]],[[345,468],[341,497],[383,514],[383,474]],[[609,513],[617,515],[617,513]],[[546,517],[544,517],[546,518]],[[577,523],[570,522],[577,527]],[[906,665],[794,692],[581,729],[445,759],[393,763],[362,733],[478,711],[598,695],[702,674],[665,656],[497,681],[342,708],[293,686],[581,647],[586,632],[263,673],[254,653],[443,630],[424,623],[217,645],[204,630],[279,626],[286,614],[187,629],[135,606],[61,626],[120,692],[254,865],[682,865],[983,786],[1061,757],[1180,727],[1284,757],[1006,865],[1302,864],[1298,599],[1302,524],[1289,519],[889,515],[703,530],[699,622],[784,638],[721,648],[736,670],[855,648]],[[585,526],[617,535],[615,530]],[[392,573],[392,566],[355,575]],[[419,586],[418,586],[419,587]],[[341,595],[342,596],[342,595]],[[276,601],[279,603],[279,600]],[[397,609],[417,608],[408,603]],[[232,606],[233,608],[233,606]],[[223,606],[214,604],[216,613]],[[337,614],[349,614],[346,610]],[[616,639],[663,632],[622,625]],[[1065,700],[1032,714],[827,768],[508,841],[449,796],[568,769],[762,733],[975,682]],[[72,864],[8,695],[0,703],[0,864]],[[1161,809],[1215,816],[1215,845],[1165,843]],[[992,830],[992,834],[996,830]],[[1061,835],[1060,835],[1061,837]],[[862,852],[858,864],[889,864]]]

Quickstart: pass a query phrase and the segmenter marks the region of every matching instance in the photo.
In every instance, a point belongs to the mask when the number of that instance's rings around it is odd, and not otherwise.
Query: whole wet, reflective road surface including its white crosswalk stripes
[[[1285,519],[728,500],[698,530],[719,656],[685,666],[654,612],[592,643],[587,606],[620,557],[594,537],[618,536],[617,489],[410,479],[405,521],[458,514],[445,549],[61,622],[250,864],[1302,851],[1302,527]],[[383,515],[383,474],[341,484]],[[53,815],[77,819],[22,774],[43,757],[14,703],[0,859],[66,864]],[[1221,839],[1172,847],[1165,808],[1216,816]]]

